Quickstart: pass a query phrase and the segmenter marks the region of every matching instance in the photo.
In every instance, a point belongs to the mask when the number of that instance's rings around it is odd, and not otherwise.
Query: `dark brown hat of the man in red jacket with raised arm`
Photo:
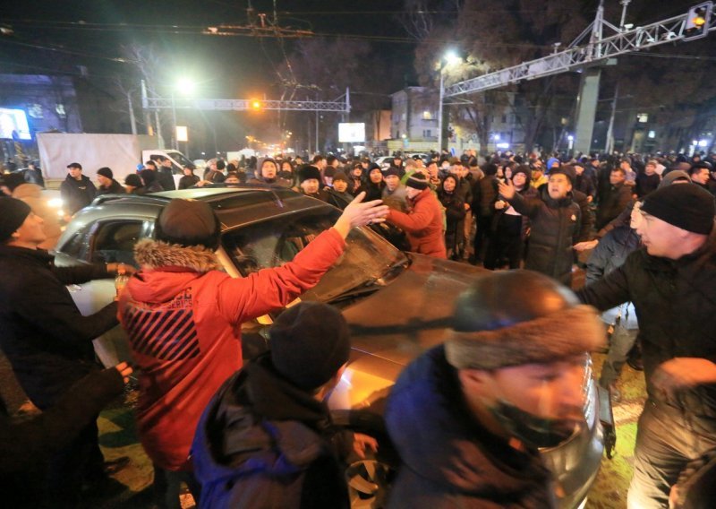
[[[208,203],[175,198],[159,212],[154,229],[157,239],[168,244],[216,250],[221,223]]]

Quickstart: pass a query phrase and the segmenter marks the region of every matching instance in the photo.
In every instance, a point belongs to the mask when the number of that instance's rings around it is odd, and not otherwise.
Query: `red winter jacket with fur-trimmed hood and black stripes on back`
[[[137,421],[149,458],[190,470],[201,412],[242,367],[241,324],[286,306],[313,287],[343,253],[335,229],[320,234],[282,267],[234,279],[202,248],[153,240],[137,245],[142,267],[119,300],[119,319],[140,368]]]

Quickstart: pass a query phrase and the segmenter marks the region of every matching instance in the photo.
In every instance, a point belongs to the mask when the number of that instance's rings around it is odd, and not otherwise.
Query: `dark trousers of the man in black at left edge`
[[[48,506],[76,507],[80,503],[82,481],[101,475],[103,461],[98,445],[97,418],[93,418],[50,461],[45,485]]]

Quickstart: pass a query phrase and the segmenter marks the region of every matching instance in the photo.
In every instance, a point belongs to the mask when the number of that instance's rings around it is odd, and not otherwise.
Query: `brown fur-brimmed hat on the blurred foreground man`
[[[601,347],[604,325],[570,289],[532,271],[492,272],[456,301],[447,362],[458,369],[546,364]]]

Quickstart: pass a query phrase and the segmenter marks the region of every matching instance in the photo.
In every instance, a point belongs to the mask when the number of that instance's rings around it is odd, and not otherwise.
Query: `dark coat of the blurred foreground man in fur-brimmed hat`
[[[471,415],[442,345],[405,368],[386,408],[388,433],[403,462],[388,507],[555,506],[539,453],[517,451]]]

